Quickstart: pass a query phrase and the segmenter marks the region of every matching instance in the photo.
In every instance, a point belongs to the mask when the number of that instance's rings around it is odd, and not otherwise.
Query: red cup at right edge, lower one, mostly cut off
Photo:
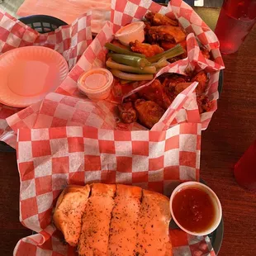
[[[256,192],[256,140],[235,164],[234,174],[241,187]]]

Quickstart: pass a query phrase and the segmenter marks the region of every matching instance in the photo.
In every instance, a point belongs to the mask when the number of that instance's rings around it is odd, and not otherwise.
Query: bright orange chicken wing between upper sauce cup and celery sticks
[[[145,55],[146,57],[152,57],[164,52],[164,49],[159,45],[143,44],[138,40],[135,40],[135,43],[130,42],[130,49],[136,53]]]

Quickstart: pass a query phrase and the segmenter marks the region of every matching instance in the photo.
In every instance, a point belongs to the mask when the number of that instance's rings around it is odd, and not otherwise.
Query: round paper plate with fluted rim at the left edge
[[[27,107],[54,92],[69,73],[62,55],[42,46],[26,46],[0,55],[0,102]]]

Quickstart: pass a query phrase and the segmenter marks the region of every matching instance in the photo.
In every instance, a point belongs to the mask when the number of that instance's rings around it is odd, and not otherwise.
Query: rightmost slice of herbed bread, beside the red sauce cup
[[[171,220],[169,199],[162,194],[143,190],[136,227],[135,256],[170,256],[168,226]]]

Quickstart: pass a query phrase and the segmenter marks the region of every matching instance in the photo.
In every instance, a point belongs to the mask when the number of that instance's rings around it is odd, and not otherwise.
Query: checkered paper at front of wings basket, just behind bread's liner
[[[186,121],[188,113],[194,111],[197,104],[195,92],[193,92],[196,87],[197,83],[192,83],[180,93],[151,130],[166,130],[173,120],[176,120],[176,123]],[[193,116],[197,118],[191,119],[190,122],[200,122],[198,111],[196,113]],[[18,129],[24,128],[84,125],[109,130],[147,130],[138,123],[120,125],[118,120],[114,103],[92,102],[87,98],[71,97],[56,92],[49,93],[42,102],[7,118],[8,124],[15,133]]]

